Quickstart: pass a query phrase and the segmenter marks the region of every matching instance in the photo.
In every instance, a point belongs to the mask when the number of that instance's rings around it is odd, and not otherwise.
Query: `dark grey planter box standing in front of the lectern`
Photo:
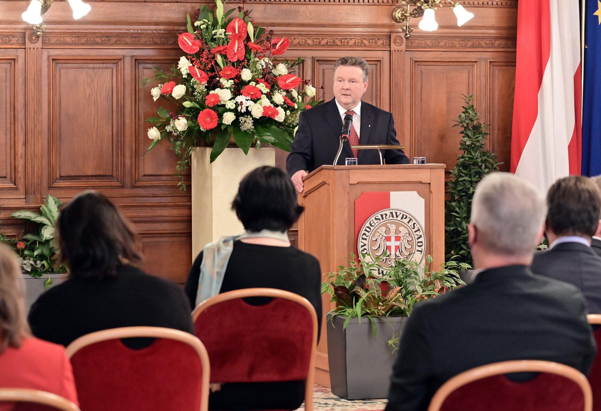
[[[392,353],[386,341],[394,334],[400,337],[407,317],[378,317],[376,338],[369,318],[351,318],[343,329],[346,317],[327,315],[328,364],[332,393],[346,400],[375,400],[388,397]],[[334,324],[332,324],[332,322]],[[398,344],[397,344],[398,347]]]

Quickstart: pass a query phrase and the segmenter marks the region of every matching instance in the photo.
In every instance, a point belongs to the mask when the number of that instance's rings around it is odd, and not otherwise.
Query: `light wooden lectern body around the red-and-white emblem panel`
[[[305,212],[299,219],[299,248],[313,254],[322,273],[347,266],[344,257],[357,254],[355,200],[364,192],[417,192],[424,199],[426,254],[432,269],[444,263],[445,255],[445,165],[325,165],[304,180],[299,204]],[[326,276],[323,276],[325,281]],[[323,296],[323,321],[317,347],[316,384],[331,387],[325,314],[334,308],[330,294]]]

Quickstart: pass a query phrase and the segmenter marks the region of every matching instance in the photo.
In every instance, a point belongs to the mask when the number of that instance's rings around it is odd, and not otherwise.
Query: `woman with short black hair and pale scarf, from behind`
[[[321,321],[322,272],[319,261],[291,246],[288,240],[287,230],[304,210],[298,204],[290,177],[269,166],[251,171],[240,182],[232,209],[246,231],[241,236],[222,237],[218,242],[205,246],[198,255],[185,287],[191,308],[217,293],[241,288],[278,288],[309,300]],[[225,260],[227,266],[212,264],[215,261],[204,261],[203,264],[207,251],[213,255],[216,255],[215,251],[221,255],[231,253],[229,260]],[[222,261],[222,258],[218,260]],[[207,269],[214,270],[213,274],[216,270],[217,275],[205,275]],[[221,284],[207,281],[207,278],[215,277],[222,279]],[[227,383],[210,394],[209,409],[295,410],[304,400],[304,390],[303,381]]]

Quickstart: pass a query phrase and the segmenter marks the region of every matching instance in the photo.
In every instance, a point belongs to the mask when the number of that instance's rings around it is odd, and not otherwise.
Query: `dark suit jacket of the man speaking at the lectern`
[[[288,174],[292,176],[299,170],[311,172],[334,163],[341,130],[342,119],[335,99],[301,112],[299,128],[286,159]],[[398,145],[392,114],[362,101],[359,144]],[[337,164],[344,165],[346,157],[353,157],[348,141],[343,144]],[[403,150],[382,150],[382,157],[386,164],[409,164]],[[359,165],[379,164],[380,156],[377,150],[359,150],[357,162]]]

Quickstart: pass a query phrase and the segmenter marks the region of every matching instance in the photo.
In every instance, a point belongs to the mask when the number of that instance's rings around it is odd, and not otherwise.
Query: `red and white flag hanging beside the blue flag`
[[[581,169],[579,5],[527,0],[517,7],[511,172],[546,193]]]

